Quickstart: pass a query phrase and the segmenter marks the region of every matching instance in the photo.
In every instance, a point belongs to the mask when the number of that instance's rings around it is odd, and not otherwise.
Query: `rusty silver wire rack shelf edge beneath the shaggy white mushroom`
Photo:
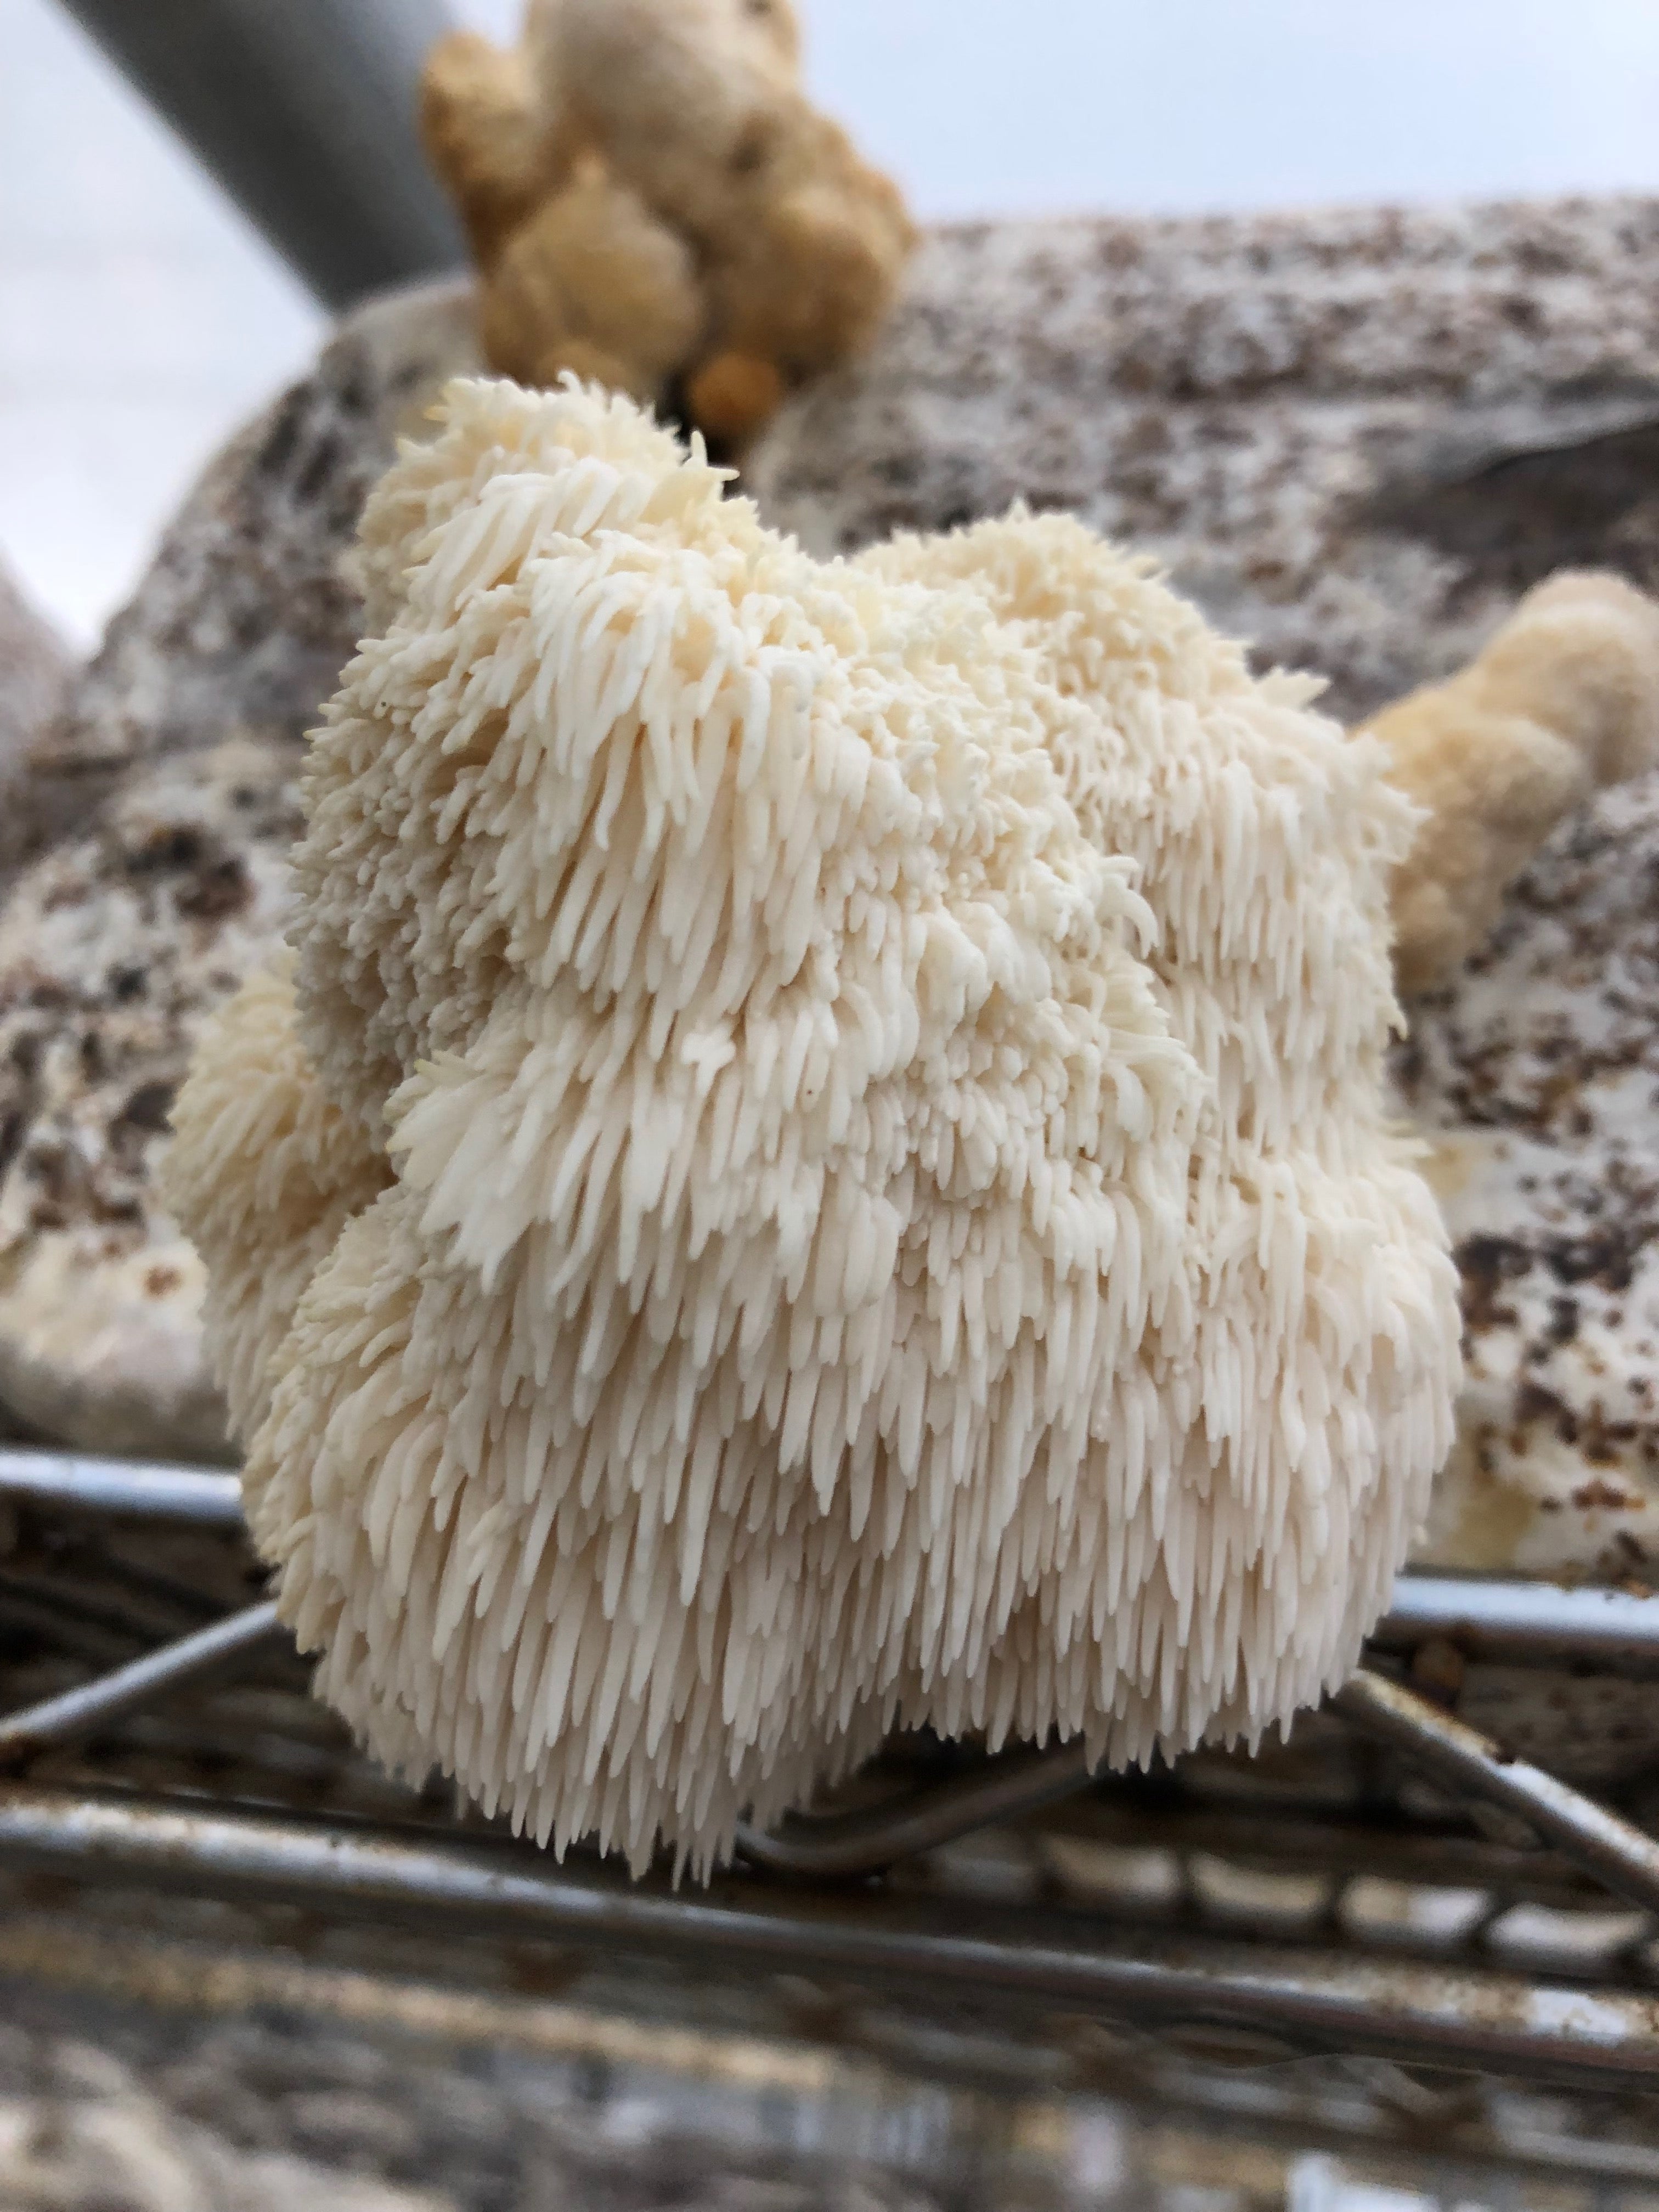
[[[1254,1759],[896,1741],[675,1891],[376,1774],[307,1694],[232,1473],[9,1449],[0,1515],[0,1882],[509,1947],[688,2017],[739,1989],[933,2070],[1175,2055],[1186,2095],[1314,2079],[1413,2128],[1471,2126],[1480,2075],[1579,2099],[1575,2172],[1610,2099],[1595,2157],[1659,2183],[1659,1597],[1405,1577],[1360,1674]]]

